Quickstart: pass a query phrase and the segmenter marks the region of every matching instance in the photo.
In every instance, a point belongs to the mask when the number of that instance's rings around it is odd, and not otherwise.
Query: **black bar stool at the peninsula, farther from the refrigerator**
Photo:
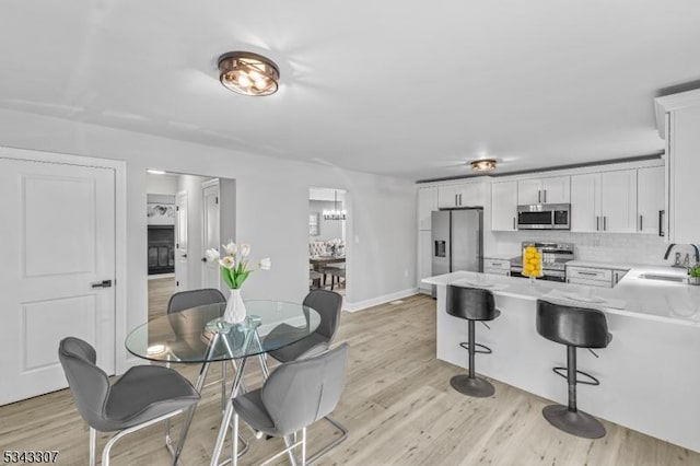
[[[608,333],[605,314],[592,308],[538,300],[537,333],[550,341],[567,346],[567,366],[552,370],[569,382],[569,406],[546,406],[542,416],[557,429],[573,435],[585,439],[605,436],[605,427],[593,416],[576,408],[576,384],[600,385],[596,377],[576,369],[576,348],[590,350],[608,346],[612,335]],[[597,358],[597,354],[595,356]],[[586,380],[579,380],[576,374],[583,375]]]

